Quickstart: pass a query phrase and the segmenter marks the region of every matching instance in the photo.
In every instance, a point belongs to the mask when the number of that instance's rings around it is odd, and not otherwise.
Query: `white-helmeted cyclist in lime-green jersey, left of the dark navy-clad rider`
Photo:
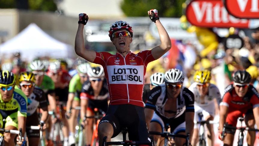
[[[66,104],[66,116],[69,124],[69,146],[75,144],[75,126],[79,111],[73,108],[80,106],[80,93],[82,84],[88,80],[87,69],[90,67],[88,62],[78,64],[77,74],[69,82],[69,94]]]

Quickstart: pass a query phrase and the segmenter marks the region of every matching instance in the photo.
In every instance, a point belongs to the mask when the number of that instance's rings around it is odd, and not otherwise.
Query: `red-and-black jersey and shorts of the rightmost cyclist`
[[[245,114],[249,109],[259,107],[259,94],[253,85],[249,85],[245,96],[240,98],[236,94],[233,84],[230,84],[225,89],[220,105],[228,107],[226,122],[235,126],[239,116]]]

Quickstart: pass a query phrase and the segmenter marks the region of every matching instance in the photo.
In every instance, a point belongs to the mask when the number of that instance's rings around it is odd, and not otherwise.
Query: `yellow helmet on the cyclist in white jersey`
[[[193,76],[195,82],[209,83],[211,76],[209,70],[197,70]]]

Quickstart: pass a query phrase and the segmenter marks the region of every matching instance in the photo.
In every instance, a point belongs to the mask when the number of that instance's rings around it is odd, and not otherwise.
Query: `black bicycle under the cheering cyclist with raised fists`
[[[133,146],[133,145],[149,145],[149,146],[154,146],[154,138],[151,136],[151,142],[145,142],[145,141],[130,141],[126,140],[126,134],[128,130],[126,127],[124,127],[121,130],[123,141],[110,141],[107,142],[107,136],[103,138],[102,146],[108,146],[108,145],[123,145],[123,146]]]

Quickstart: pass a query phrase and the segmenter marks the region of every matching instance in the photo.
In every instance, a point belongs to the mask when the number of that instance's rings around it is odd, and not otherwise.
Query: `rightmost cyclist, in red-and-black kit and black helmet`
[[[259,125],[259,94],[253,85],[250,84],[250,74],[245,70],[238,70],[233,74],[232,78],[233,82],[226,87],[225,94],[220,103],[220,139],[224,124],[227,123],[230,126],[236,127],[237,119],[240,116],[245,115],[245,124],[248,128],[254,128],[254,124]],[[224,146],[232,146],[235,130],[226,129],[225,133],[226,135],[223,139]],[[246,141],[248,146],[254,145],[254,131],[247,132]]]

